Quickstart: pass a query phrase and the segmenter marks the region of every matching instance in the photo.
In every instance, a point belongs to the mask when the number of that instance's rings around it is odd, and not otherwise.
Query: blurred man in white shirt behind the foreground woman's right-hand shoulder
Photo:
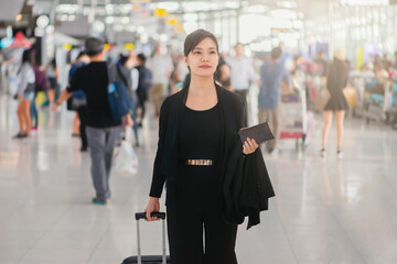
[[[247,112],[247,94],[250,82],[258,82],[259,76],[255,72],[253,61],[244,56],[244,45],[237,43],[235,46],[236,56],[225,57],[226,63],[230,66],[230,90],[240,95],[244,99]],[[247,124],[247,116],[245,125]]]

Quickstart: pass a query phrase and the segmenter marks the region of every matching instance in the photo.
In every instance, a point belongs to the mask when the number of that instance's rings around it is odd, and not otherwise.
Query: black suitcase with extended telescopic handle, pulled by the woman
[[[162,219],[162,255],[141,255],[140,248],[140,233],[139,233],[139,220],[146,219],[146,212],[137,212],[137,240],[138,240],[138,255],[129,256],[122,261],[121,264],[169,264],[170,256],[165,255],[165,212],[152,212],[152,217]]]

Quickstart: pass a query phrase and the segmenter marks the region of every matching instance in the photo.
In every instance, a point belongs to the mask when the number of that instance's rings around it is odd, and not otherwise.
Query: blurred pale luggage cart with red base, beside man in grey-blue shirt
[[[304,151],[309,135],[304,89],[299,89],[298,94],[282,95],[279,111],[279,139],[294,139],[296,150]]]

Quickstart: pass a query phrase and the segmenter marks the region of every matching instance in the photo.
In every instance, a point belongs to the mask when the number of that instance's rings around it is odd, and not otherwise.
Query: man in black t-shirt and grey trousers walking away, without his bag
[[[89,57],[89,64],[76,69],[69,80],[69,86],[63,90],[54,105],[53,112],[74,91],[84,90],[87,99],[86,133],[90,150],[92,177],[96,191],[93,202],[107,205],[110,198],[111,157],[121,120],[116,120],[110,111],[108,85],[116,82],[112,82],[109,67],[104,62],[104,42],[96,37],[88,37],[85,42],[85,52]],[[127,125],[132,125],[130,113],[126,113],[124,119]]]

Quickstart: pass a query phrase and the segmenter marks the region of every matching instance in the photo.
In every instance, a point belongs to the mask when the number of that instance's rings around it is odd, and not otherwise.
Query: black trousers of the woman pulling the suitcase
[[[167,207],[172,264],[237,264],[237,226],[222,217],[216,174],[186,165],[180,173],[176,205]]]

